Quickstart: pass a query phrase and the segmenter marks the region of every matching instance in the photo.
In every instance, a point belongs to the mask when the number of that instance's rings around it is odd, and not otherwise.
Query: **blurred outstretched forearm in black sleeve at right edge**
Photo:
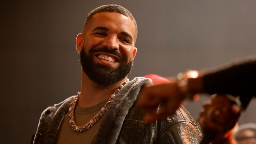
[[[188,79],[191,92],[229,93],[255,96],[256,60],[236,64],[215,72],[199,72],[198,78]]]

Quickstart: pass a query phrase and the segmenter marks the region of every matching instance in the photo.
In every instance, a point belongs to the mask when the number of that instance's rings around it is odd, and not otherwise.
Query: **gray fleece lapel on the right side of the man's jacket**
[[[108,110],[102,117],[102,122],[96,134],[95,144],[115,144],[122,128],[123,121],[129,109],[136,100],[141,86],[152,82],[149,78],[136,77],[128,82],[117,94]]]

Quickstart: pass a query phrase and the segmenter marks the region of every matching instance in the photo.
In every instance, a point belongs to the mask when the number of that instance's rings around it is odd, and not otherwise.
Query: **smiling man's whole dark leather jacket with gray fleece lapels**
[[[137,77],[127,83],[102,117],[94,144],[198,144],[202,132],[195,120],[181,106],[174,115],[154,123],[142,121],[144,112],[136,106],[141,86],[150,82]],[[56,143],[59,126],[73,97],[45,109],[40,117],[34,144]]]

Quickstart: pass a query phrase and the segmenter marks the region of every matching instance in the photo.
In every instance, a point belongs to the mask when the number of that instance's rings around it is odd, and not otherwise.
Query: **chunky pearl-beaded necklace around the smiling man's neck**
[[[83,126],[77,126],[75,123],[75,119],[74,119],[74,111],[75,111],[75,105],[79,99],[79,96],[81,94],[81,92],[77,92],[76,96],[73,97],[73,101],[71,102],[71,107],[69,108],[69,123],[71,125],[71,128],[76,131],[76,132],[84,132],[88,129],[90,129],[106,112],[106,110],[108,109],[108,106],[111,104],[111,102],[113,101],[113,99],[116,97],[117,93],[121,90],[121,88],[129,82],[129,79],[127,78],[126,81],[119,86],[119,88],[114,92],[114,94],[112,94],[109,98],[109,100],[106,102],[106,104],[100,109],[100,111],[98,113],[96,113],[96,115],[85,125]]]

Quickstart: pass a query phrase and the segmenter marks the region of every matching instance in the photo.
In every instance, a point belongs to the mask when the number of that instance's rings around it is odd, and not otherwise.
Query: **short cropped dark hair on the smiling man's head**
[[[125,9],[124,7],[116,5],[116,4],[104,5],[104,6],[100,6],[100,7],[97,7],[96,9],[92,10],[88,14],[88,16],[87,16],[87,18],[85,20],[84,29],[87,26],[87,24],[91,22],[93,16],[96,13],[100,13],[100,12],[117,12],[117,13],[120,13],[122,15],[125,15],[125,16],[129,17],[131,20],[134,21],[134,24],[135,24],[135,27],[136,27],[136,36],[137,36],[138,27],[137,27],[137,23],[136,23],[133,15],[132,15],[132,13],[129,10]]]

